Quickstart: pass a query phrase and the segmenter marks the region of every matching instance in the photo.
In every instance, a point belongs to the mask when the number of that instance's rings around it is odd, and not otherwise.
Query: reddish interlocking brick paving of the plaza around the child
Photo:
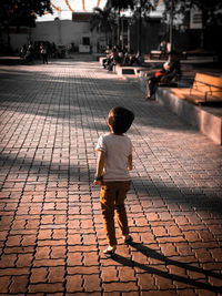
[[[222,295],[222,147],[98,62],[1,65],[0,295]],[[105,258],[92,185],[105,116],[137,119],[134,244]]]

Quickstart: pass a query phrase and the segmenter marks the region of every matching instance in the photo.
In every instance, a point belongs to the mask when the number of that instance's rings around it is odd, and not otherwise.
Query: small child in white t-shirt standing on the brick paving
[[[124,207],[127,192],[130,190],[132,170],[132,143],[124,133],[130,129],[134,114],[122,106],[114,106],[108,115],[110,133],[98,140],[98,165],[94,184],[101,185],[100,204],[104,232],[109,246],[105,255],[114,254],[117,249],[114,212],[124,243],[129,244],[128,217]]]

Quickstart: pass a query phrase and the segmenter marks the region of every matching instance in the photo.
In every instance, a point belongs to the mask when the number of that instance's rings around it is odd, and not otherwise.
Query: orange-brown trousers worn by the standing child
[[[129,234],[124,200],[131,181],[103,182],[100,191],[100,204],[104,233],[109,245],[117,245],[114,213],[122,235]]]

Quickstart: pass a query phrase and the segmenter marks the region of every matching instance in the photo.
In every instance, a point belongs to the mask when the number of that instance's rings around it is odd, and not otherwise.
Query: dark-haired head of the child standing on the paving
[[[123,106],[114,106],[108,115],[108,125],[117,134],[125,133],[134,120],[132,111]]]

